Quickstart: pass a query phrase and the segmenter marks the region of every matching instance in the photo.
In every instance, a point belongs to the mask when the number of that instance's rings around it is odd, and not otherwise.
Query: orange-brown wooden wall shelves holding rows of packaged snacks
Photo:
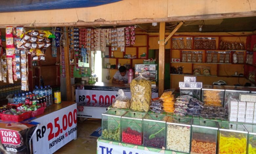
[[[171,46],[171,57],[170,57],[170,63],[171,63],[171,67],[178,67],[178,66],[183,66],[183,73],[186,74],[193,74],[193,70],[195,68],[198,68],[200,66],[203,67],[208,67],[210,69],[210,73],[211,75],[194,75],[194,76],[205,76],[205,77],[238,77],[238,76],[232,76],[234,72],[229,72],[226,73],[225,70],[225,66],[231,66],[234,65],[235,67],[239,67],[242,69],[239,69],[239,72],[237,72],[238,74],[242,73],[245,74],[245,69],[243,68],[245,66],[245,57],[246,57],[246,50],[220,50],[220,42],[242,42],[244,43],[245,47],[247,45],[247,38],[246,36],[193,36],[193,35],[179,35],[179,36],[173,36],[171,39],[173,38],[183,38],[184,40],[184,45],[186,47],[186,38],[192,38],[192,42],[191,42],[191,49],[176,49],[173,47],[173,43]],[[194,39],[198,38],[198,37],[210,37],[216,40],[216,47],[215,49],[195,49],[194,48]],[[242,39],[241,39],[242,38]],[[173,41],[172,41],[173,42]],[[180,58],[180,60],[182,60],[182,51],[201,51],[202,53],[202,63],[193,63],[193,62],[172,62],[171,59],[172,58]],[[206,63],[206,51],[217,51],[217,52],[226,52],[229,51],[230,52],[230,57],[229,57],[229,63]],[[244,53],[244,63],[233,63],[233,58],[232,55],[234,52],[243,52]],[[256,56],[256,55],[255,55]],[[219,57],[220,54],[218,54],[218,62],[219,62]],[[201,72],[202,73],[202,72]],[[225,73],[226,75],[223,75],[223,73]],[[172,74],[171,75],[177,75],[177,74]],[[239,76],[239,77],[243,77],[243,76]]]

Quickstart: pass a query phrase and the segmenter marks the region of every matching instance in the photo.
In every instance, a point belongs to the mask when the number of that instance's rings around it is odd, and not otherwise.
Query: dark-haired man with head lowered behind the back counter
[[[119,70],[115,73],[113,79],[113,84],[126,84],[128,83],[128,72],[124,66],[120,66]]]

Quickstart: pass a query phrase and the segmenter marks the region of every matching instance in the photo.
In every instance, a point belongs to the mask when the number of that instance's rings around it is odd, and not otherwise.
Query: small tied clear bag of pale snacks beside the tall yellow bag
[[[130,98],[125,95],[123,89],[119,89],[117,95],[118,96],[113,101],[113,107],[129,108],[131,106]]]

